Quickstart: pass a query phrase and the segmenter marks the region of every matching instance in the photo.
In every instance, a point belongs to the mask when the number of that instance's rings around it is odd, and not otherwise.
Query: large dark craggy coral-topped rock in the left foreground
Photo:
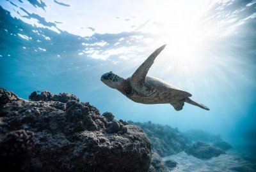
[[[140,127],[109,122],[72,94],[29,99],[0,89],[1,169],[148,171],[151,145]]]

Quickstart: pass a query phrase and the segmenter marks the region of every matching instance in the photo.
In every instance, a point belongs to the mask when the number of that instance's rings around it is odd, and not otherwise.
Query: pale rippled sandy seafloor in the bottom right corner
[[[219,157],[212,157],[208,160],[198,159],[192,155],[187,155],[185,152],[179,154],[163,157],[163,160],[172,159],[178,162],[176,168],[172,171],[182,172],[255,172],[256,171],[256,157],[254,141],[247,142],[242,145],[244,141],[237,140],[232,143],[233,148],[227,150],[227,154]]]

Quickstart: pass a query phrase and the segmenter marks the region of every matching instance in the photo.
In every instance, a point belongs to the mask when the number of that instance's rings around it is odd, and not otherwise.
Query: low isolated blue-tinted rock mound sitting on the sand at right
[[[211,159],[211,157],[218,157],[220,154],[226,154],[221,148],[216,148],[208,143],[197,141],[190,145],[185,150],[186,154],[193,155],[199,159]]]

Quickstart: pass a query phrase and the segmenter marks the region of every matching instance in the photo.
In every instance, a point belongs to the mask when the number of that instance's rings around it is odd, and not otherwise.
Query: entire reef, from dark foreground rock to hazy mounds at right
[[[8,170],[166,172],[177,162],[161,157],[184,150],[210,159],[231,148],[204,131],[182,134],[168,125],[128,123],[111,112],[100,115],[74,94],[32,92],[29,99],[0,89],[0,161]]]

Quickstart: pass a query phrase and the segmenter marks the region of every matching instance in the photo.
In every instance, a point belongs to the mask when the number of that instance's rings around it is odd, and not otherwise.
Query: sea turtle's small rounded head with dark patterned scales
[[[119,89],[120,87],[122,87],[122,81],[124,79],[110,71],[108,73],[103,74],[100,80],[112,89]]]

